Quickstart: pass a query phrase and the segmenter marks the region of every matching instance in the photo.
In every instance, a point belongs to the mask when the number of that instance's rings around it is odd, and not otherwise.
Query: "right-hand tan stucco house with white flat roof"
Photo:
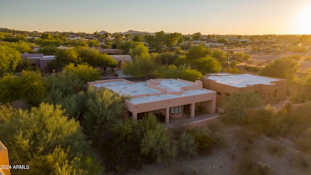
[[[203,88],[217,92],[217,106],[231,93],[257,92],[266,103],[286,98],[287,80],[252,74],[209,73],[202,77]]]

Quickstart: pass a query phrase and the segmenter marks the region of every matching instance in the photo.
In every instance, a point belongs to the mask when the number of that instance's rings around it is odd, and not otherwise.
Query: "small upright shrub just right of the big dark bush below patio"
[[[189,132],[183,132],[178,139],[178,152],[181,157],[192,157],[197,155],[197,144]]]

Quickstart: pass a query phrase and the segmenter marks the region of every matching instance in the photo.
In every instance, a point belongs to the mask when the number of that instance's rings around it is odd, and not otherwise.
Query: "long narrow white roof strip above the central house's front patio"
[[[208,90],[208,89],[190,90],[190,91],[185,91],[184,94],[182,95],[162,94],[162,95],[155,95],[155,96],[144,96],[144,97],[133,98],[128,101],[134,105],[138,105],[138,104],[157,102],[157,101],[162,101],[162,100],[178,99],[178,98],[183,98],[183,97],[192,96],[192,95],[209,94],[212,92],[215,92],[215,91]]]

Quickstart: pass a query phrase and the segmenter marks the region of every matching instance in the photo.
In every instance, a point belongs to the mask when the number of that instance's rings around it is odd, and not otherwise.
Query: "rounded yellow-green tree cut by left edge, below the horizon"
[[[17,50],[0,45],[0,77],[13,73],[20,61],[20,53]]]

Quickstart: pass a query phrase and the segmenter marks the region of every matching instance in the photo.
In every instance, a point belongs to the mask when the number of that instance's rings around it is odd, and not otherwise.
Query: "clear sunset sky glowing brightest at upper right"
[[[38,32],[311,34],[311,0],[0,0],[0,27]]]

